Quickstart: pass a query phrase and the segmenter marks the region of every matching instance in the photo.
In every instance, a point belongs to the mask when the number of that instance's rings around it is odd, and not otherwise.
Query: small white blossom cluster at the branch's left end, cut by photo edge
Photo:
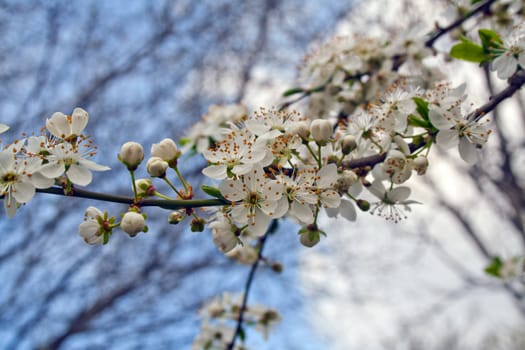
[[[46,120],[48,133],[16,140],[0,151],[0,194],[8,216],[30,201],[37,188],[57,183],[70,191],[72,185],[88,185],[92,171],[109,170],[88,159],[96,153],[83,134],[88,119],[82,108],[71,115],[54,113]],[[0,125],[0,132],[6,130]]]

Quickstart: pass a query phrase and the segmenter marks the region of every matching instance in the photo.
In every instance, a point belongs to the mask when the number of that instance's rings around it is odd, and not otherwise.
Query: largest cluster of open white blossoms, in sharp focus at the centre
[[[467,119],[465,101],[464,86],[423,89],[403,82],[344,119],[260,109],[229,123],[221,141],[203,151],[203,174],[220,180],[219,190],[231,202],[210,220],[214,242],[227,253],[244,243],[246,232],[262,236],[272,219],[283,216],[302,224],[301,232],[322,233],[321,210],[355,220],[356,207],[366,211],[370,200],[371,213],[394,222],[405,218],[417,202],[409,199],[409,187],[397,186],[413,173],[425,174],[434,143],[458,147],[473,163],[487,142],[487,123]]]

